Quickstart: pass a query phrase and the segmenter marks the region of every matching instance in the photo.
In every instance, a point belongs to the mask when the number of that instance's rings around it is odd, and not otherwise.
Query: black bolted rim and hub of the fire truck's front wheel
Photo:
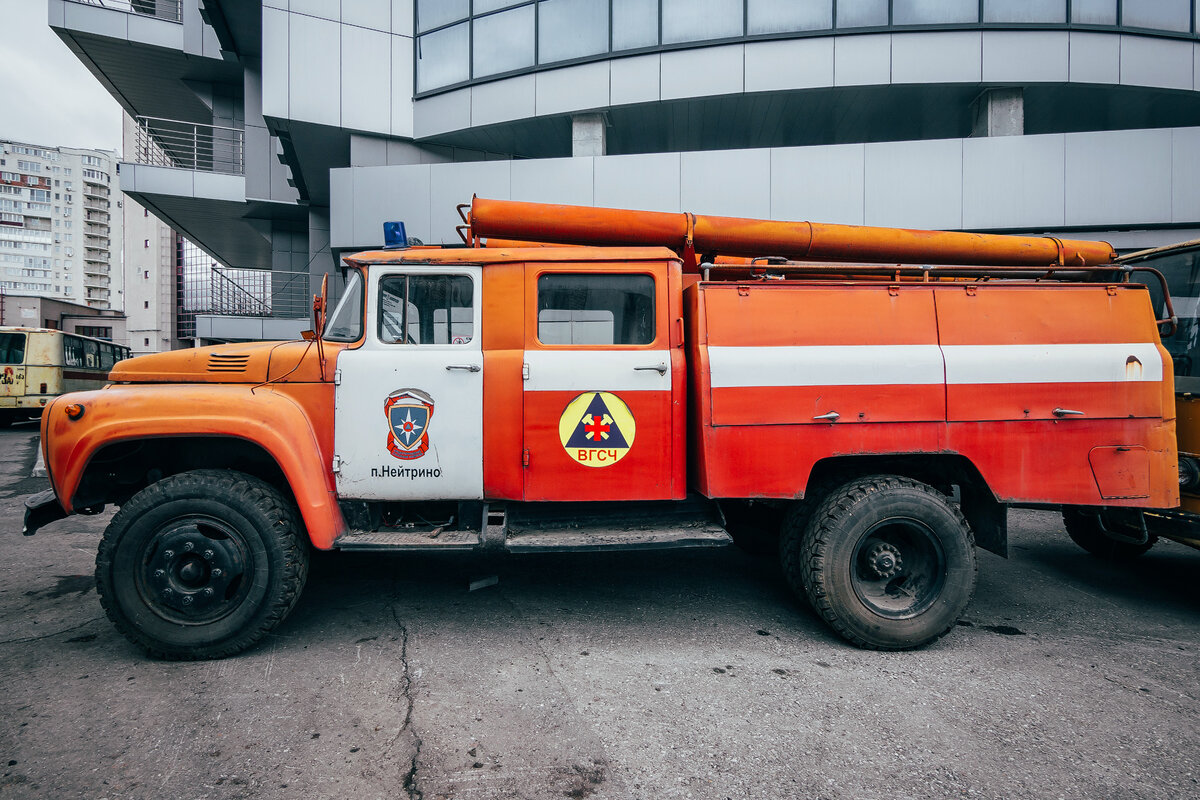
[[[180,521],[160,533],[155,545],[142,575],[152,606],[187,622],[229,610],[246,571],[246,557],[232,537],[215,525]]]

